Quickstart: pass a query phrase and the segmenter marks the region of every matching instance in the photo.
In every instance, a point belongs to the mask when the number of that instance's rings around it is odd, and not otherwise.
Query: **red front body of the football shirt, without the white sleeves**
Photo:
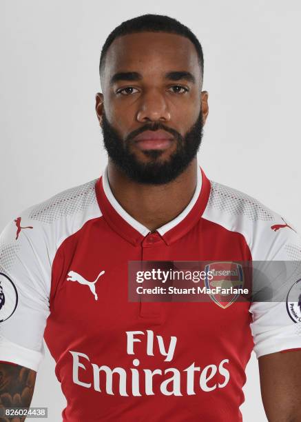
[[[202,218],[209,196],[205,175],[194,208],[163,237],[158,233],[143,237],[112,208],[100,181],[96,190],[103,217],[87,221],[65,239],[52,265],[51,313],[44,337],[68,402],[63,421],[142,421],[145,415],[154,421],[242,421],[242,386],[253,349],[249,303],[232,303],[225,309],[214,301],[132,303],[127,299],[127,264],[248,261],[251,253],[245,237]],[[96,283],[98,300],[87,285],[66,281],[70,271],[93,281],[102,270],[105,274]],[[135,334],[134,354],[127,348],[131,332],[140,332]],[[166,361],[159,339],[168,350],[172,337],[176,346]],[[121,395],[120,375],[113,374],[110,384],[105,372],[97,369],[102,365],[125,371],[127,396]],[[191,365],[198,370],[189,378]],[[133,392],[135,370],[141,396]],[[148,394],[145,377],[155,370],[162,374],[154,375],[154,394]],[[180,377],[178,395],[162,392],[172,371]],[[226,372],[229,381],[223,385]],[[175,377],[167,390],[177,389]]]

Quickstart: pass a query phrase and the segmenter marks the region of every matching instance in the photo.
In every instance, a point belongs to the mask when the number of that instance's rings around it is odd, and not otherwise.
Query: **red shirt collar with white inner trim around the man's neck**
[[[107,177],[107,167],[103,176],[96,182],[95,188],[99,208],[110,227],[130,243],[134,245],[141,243],[150,230],[136,221],[116,201]],[[209,179],[198,167],[196,190],[191,201],[178,217],[156,230],[167,245],[183,237],[200,219],[207,205],[210,188]]]

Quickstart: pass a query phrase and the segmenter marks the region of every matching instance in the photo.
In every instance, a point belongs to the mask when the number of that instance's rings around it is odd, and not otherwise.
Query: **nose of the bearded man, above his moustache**
[[[137,120],[141,123],[149,121],[169,121],[170,112],[162,93],[157,90],[145,92],[137,112]]]

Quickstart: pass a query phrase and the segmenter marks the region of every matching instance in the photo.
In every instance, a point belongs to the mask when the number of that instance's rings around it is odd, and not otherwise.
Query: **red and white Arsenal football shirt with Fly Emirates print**
[[[0,360],[38,370],[43,336],[63,421],[242,421],[245,367],[301,348],[286,303],[131,303],[129,261],[300,260],[280,215],[209,181],[150,233],[100,179],[26,210],[0,239]],[[275,230],[276,228],[276,230]]]

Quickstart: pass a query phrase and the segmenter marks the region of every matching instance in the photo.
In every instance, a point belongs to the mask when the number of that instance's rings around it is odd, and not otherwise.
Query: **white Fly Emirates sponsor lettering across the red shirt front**
[[[152,330],[143,331],[127,331],[127,354],[135,355],[135,343],[143,342],[145,344],[145,352],[147,356],[154,356],[154,342],[158,344],[160,355],[163,356],[165,362],[171,362],[174,359],[176,350],[176,336],[171,336],[169,344],[163,339],[163,336],[156,335]],[[209,364],[204,368],[191,363],[185,370],[177,368],[162,369],[145,369],[139,368],[141,363],[134,358],[133,368],[110,368],[107,365],[98,366],[90,361],[87,354],[81,352],[69,351],[73,359],[73,382],[85,388],[93,388],[97,392],[120,396],[152,396],[154,394],[164,394],[165,396],[191,396],[197,394],[200,388],[205,392],[211,392],[216,388],[224,388],[230,379],[229,359],[223,359],[217,365]],[[89,376],[89,383],[83,382],[80,374],[83,371]],[[160,377],[160,392],[154,392],[153,379],[156,377],[156,385],[158,385],[158,377]],[[87,379],[85,379],[87,381]],[[185,391],[183,385],[185,384]],[[130,387],[129,387],[130,385]]]

